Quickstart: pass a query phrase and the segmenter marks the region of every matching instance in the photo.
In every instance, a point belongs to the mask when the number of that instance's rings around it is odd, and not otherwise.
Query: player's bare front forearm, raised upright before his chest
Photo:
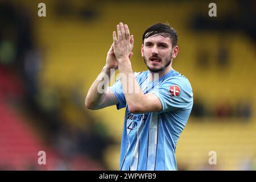
[[[136,113],[141,110],[143,104],[146,104],[146,96],[142,92],[135,76],[130,60],[119,61],[118,63],[119,75],[121,75],[121,82],[123,93],[125,94],[126,103],[131,113]],[[123,77],[123,78],[122,78]]]

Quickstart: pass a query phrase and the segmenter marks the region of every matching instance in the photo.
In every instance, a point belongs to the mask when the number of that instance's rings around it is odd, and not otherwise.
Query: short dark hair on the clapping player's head
[[[147,39],[152,35],[162,35],[165,38],[171,38],[172,48],[177,46],[177,32],[174,28],[170,27],[169,24],[155,23],[148,27],[142,36],[142,43],[144,44],[144,39]]]

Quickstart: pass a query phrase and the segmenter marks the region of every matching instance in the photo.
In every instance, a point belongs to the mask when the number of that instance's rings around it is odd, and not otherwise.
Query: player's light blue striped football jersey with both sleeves
[[[177,170],[176,143],[193,105],[191,85],[186,77],[171,70],[158,81],[148,81],[148,71],[135,73],[144,94],[154,93],[162,111],[132,114],[118,79],[110,89],[117,97],[117,109],[126,107],[121,143],[120,170]]]

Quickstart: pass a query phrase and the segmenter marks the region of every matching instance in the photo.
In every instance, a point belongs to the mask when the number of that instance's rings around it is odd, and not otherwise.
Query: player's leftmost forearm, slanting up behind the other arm
[[[85,105],[89,109],[97,108],[106,94],[110,80],[110,69],[106,66],[102,69],[100,75],[93,82],[85,99]]]

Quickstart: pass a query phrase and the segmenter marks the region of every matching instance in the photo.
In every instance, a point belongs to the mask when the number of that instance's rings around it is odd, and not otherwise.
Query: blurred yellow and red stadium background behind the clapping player
[[[46,17],[38,4],[46,3]],[[217,17],[208,5],[217,5]],[[84,100],[105,64],[112,31],[129,25],[136,72],[142,34],[168,22],[173,67],[194,106],[176,148],[179,170],[256,169],[255,1],[0,1],[0,169],[118,170],[125,110]],[[46,165],[38,164],[46,151]],[[217,164],[209,165],[209,151]]]

